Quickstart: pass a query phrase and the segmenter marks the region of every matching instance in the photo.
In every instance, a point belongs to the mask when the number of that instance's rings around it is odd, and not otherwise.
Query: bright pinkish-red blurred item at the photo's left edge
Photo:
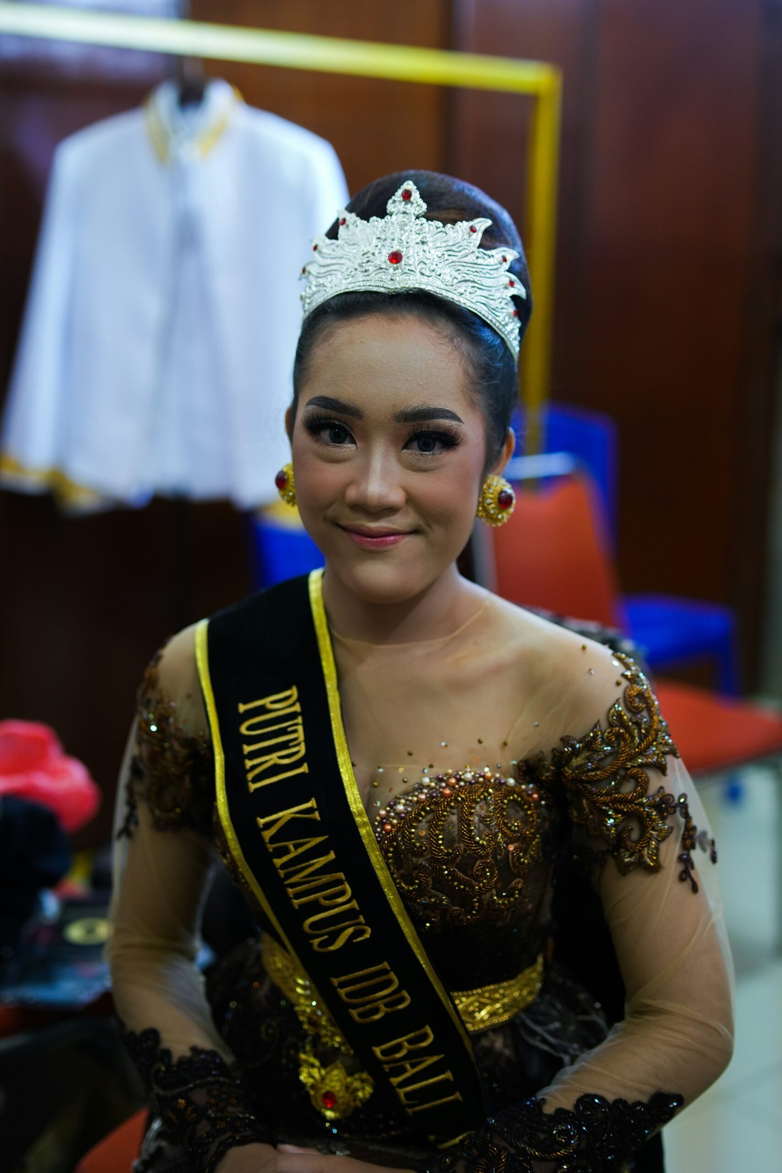
[[[16,794],[48,807],[63,830],[89,822],[101,792],[76,758],[69,758],[48,725],[0,721],[0,795]]]

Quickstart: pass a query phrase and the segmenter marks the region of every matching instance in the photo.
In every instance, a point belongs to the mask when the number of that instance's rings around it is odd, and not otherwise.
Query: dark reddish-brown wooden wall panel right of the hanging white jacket
[[[762,167],[780,150],[778,99],[763,89],[767,75],[778,89],[778,5],[458,0],[456,11],[461,48],[564,72],[551,392],[619,423],[624,585],[736,605],[752,680],[780,277],[778,216],[760,240],[757,223],[782,195]],[[515,142],[519,115],[512,126],[506,103],[461,101],[472,133],[454,140],[454,165],[506,198],[515,155],[497,151],[496,126],[490,144],[480,128],[498,117]]]

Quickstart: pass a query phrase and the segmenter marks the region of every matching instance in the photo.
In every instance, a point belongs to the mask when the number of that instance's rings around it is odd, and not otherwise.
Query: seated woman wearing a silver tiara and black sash
[[[278,488],[326,571],[175,636],[127,755],[137,1168],[660,1167],[648,1138],[730,1055],[713,841],[638,666],[456,569],[514,504],[518,233],[404,172],[304,272]],[[260,931],[204,988],[213,845]],[[608,1029],[560,957],[614,950]]]

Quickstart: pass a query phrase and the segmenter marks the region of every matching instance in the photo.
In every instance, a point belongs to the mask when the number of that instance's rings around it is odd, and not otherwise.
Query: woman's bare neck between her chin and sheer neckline
[[[462,578],[453,564],[430,586],[402,603],[370,603],[335,574],[324,575],[328,621],[340,636],[369,644],[403,644],[449,636],[484,601],[481,586]]]

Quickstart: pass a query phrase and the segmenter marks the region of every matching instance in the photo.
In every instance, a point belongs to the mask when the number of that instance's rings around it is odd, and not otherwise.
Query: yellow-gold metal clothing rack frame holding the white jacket
[[[287,69],[387,77],[430,86],[502,90],[535,99],[524,231],[535,313],[522,347],[522,398],[528,412],[525,450],[538,450],[540,413],[550,379],[553,318],[562,106],[562,75],[555,66],[448,49],[348,41],[190,20],[125,16],[36,4],[0,2],[0,33]]]

